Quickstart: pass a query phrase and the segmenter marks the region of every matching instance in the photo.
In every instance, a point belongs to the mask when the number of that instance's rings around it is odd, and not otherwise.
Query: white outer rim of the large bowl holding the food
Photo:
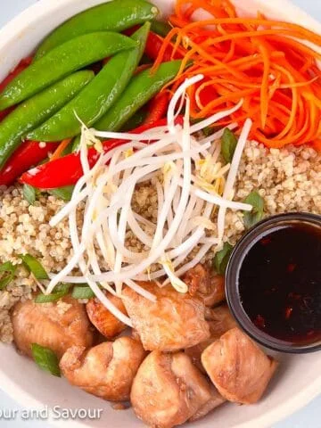
[[[35,0],[36,1],[36,0]],[[96,4],[104,3],[106,0],[96,0]],[[169,1],[169,0],[168,0]],[[234,0],[236,3],[238,0]],[[263,0],[256,0],[262,1]],[[58,0],[53,2],[52,0],[38,0],[37,3],[32,4],[27,9],[16,15],[11,21],[4,25],[0,29],[0,50],[5,47],[8,43],[12,42],[14,38],[22,34],[24,31],[30,29],[37,21],[41,20],[42,17],[49,14],[53,14],[56,10],[59,10],[65,4],[76,4],[77,0]],[[268,8],[272,12],[280,11],[279,0],[269,0]],[[301,16],[304,18],[302,25],[306,25],[304,21],[308,19],[312,23],[312,27],[321,32],[321,24],[309,16],[307,12],[304,12],[300,7],[291,3],[290,0],[283,0],[282,10],[292,12],[293,15]],[[85,10],[84,7],[83,10]],[[289,13],[290,14],[290,13]],[[3,63],[1,64],[3,66]],[[10,346],[0,343],[0,350],[3,346]],[[3,390],[9,397],[14,399],[21,407],[44,407],[45,402],[40,401],[32,397],[28,391],[24,390],[20,384],[12,382],[11,378],[5,374],[4,370],[0,367],[0,389]],[[302,389],[295,396],[289,394],[289,398],[281,402],[278,406],[268,410],[261,416],[257,416],[251,421],[244,422],[235,425],[233,428],[268,428],[272,424],[284,419],[286,416],[290,416],[301,407],[306,406],[312,399],[315,399],[321,391],[321,374],[315,379],[313,383],[310,383],[305,389]],[[46,421],[47,424],[53,426],[62,427],[67,426],[69,428],[88,428],[87,424],[83,424],[81,421],[70,420],[67,423],[64,421],[56,421],[49,418]]]

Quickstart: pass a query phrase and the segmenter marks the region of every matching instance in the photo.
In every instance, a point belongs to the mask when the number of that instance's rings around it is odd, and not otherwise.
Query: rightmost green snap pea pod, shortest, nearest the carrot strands
[[[95,124],[95,128],[104,131],[119,130],[136,111],[176,77],[180,65],[179,60],[163,62],[153,74],[147,69],[134,76],[119,100]]]

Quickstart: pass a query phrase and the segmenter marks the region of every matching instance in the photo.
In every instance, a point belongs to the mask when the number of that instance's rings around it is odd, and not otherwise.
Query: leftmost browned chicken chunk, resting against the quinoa
[[[85,305],[70,296],[54,303],[18,303],[12,311],[12,326],[18,350],[29,357],[32,343],[53,350],[61,358],[70,346],[89,347],[93,342]]]

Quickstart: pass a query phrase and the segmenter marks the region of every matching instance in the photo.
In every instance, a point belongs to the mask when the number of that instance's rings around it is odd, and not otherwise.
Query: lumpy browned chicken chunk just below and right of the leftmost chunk
[[[143,346],[131,337],[103,342],[86,350],[73,346],[60,362],[62,374],[72,385],[110,401],[126,401],[145,357]]]

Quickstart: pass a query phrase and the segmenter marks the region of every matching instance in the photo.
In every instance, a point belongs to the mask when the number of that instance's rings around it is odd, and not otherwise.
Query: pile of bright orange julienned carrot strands
[[[200,9],[213,18],[192,21]],[[321,36],[300,25],[237,17],[228,0],[177,0],[175,27],[164,38],[156,70],[173,43],[185,52],[171,91],[196,74],[204,79],[188,89],[191,115],[204,118],[231,108],[239,111],[220,125],[253,120],[252,137],[270,147],[321,139]],[[306,42],[309,42],[307,44]],[[188,62],[192,66],[185,68]]]

